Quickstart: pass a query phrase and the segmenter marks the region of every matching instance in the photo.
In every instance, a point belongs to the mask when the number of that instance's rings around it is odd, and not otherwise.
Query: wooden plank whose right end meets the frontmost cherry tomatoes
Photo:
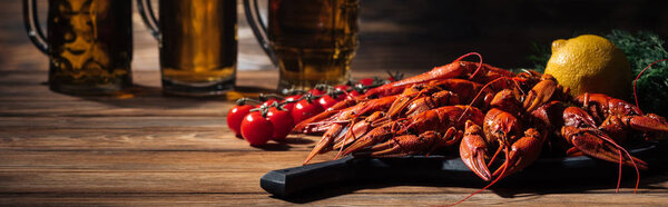
[[[0,117],[4,150],[311,150],[320,137],[291,135],[250,147],[225,117]]]

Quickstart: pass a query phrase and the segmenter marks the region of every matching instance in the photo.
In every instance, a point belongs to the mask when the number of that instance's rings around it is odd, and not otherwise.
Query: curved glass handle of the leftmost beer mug
[[[23,0],[23,24],[28,37],[35,43],[35,46],[43,53],[49,52],[49,43],[47,38],[39,26],[37,18],[37,2],[36,0]]]

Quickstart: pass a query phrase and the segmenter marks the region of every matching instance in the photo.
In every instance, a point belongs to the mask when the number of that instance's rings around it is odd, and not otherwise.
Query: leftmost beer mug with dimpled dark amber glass
[[[49,88],[110,95],[132,85],[130,0],[49,0],[47,37],[35,0],[23,0],[30,40],[49,56]]]

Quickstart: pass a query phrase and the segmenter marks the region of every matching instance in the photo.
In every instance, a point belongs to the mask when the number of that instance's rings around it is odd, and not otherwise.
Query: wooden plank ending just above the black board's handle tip
[[[0,151],[4,172],[268,172],[302,165],[307,151]],[[333,159],[335,154],[313,162]],[[279,161],[277,161],[279,160]],[[250,165],[253,164],[253,165]],[[256,177],[259,179],[259,177]]]

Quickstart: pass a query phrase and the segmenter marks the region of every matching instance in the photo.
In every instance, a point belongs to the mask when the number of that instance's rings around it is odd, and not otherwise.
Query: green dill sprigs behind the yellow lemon
[[[576,33],[577,37],[581,33]],[[605,36],[617,48],[619,48],[631,63],[633,78],[651,62],[668,58],[668,52],[664,49],[664,41],[658,34],[650,31],[639,31],[635,36],[623,30],[612,30]],[[549,45],[533,43],[533,53],[529,60],[534,63],[537,71],[544,71],[546,65],[550,59],[551,51]],[[632,87],[633,82],[629,82]],[[668,100],[668,62],[658,62],[646,70],[636,85],[638,92],[638,102],[642,111],[658,114],[668,117],[668,107],[665,101]],[[633,97],[627,100],[633,102]]]

